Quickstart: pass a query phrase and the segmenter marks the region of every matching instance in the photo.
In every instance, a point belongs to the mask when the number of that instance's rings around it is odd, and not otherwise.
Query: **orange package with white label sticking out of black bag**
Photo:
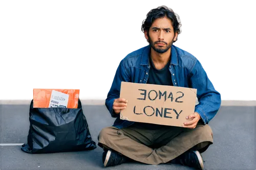
[[[79,88],[33,87],[34,108],[62,107],[76,109],[81,95]]]

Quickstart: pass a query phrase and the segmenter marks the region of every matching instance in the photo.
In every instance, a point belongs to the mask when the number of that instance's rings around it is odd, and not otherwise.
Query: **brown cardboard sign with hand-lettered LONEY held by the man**
[[[193,119],[186,116],[195,112],[197,89],[121,82],[120,98],[128,101],[120,119],[182,127]]]

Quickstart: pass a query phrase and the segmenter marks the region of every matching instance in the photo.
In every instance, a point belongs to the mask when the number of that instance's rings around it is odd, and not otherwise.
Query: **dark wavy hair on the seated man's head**
[[[174,32],[177,32],[179,37],[182,33],[181,18],[178,13],[176,13],[172,8],[168,7],[167,5],[160,5],[147,12],[144,20],[141,22],[141,33],[144,34],[144,31],[148,32],[154,20],[156,20],[157,18],[163,18],[165,16],[172,21]]]

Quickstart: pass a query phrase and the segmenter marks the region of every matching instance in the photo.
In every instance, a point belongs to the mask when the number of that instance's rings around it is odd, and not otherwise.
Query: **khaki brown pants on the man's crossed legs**
[[[166,163],[187,150],[203,153],[213,143],[208,124],[198,123],[195,129],[170,127],[146,130],[138,127],[103,128],[98,135],[101,148],[112,149],[135,161],[157,165]]]

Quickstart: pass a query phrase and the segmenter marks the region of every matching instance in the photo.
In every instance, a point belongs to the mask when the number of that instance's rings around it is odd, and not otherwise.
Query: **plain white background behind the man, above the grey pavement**
[[[208,65],[224,98],[255,98],[254,55],[246,54],[250,43],[243,45],[238,10],[183,2],[172,6],[184,21],[177,44],[192,49]],[[0,98],[28,98],[29,85],[82,85],[83,94],[105,94],[115,62],[127,50],[143,45],[140,21],[155,7],[153,3],[6,7]]]

